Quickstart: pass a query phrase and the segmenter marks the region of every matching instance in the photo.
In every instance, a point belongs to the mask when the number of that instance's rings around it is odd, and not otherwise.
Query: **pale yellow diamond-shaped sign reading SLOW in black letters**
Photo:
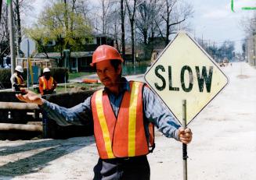
[[[228,83],[210,55],[185,32],[168,44],[144,78],[179,122],[186,100],[187,124]]]

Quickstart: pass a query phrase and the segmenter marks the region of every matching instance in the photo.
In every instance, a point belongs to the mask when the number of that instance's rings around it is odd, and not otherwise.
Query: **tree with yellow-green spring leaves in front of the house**
[[[41,12],[38,23],[27,34],[35,41],[41,38],[42,45],[49,41],[56,41],[55,51],[59,51],[63,58],[63,49],[79,50],[82,44],[91,37],[92,28],[87,19],[75,9],[76,1],[71,3],[56,2]],[[38,33],[36,38],[35,32]]]

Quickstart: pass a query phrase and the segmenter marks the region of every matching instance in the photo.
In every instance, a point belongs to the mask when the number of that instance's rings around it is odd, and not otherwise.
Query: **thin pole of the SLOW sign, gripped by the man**
[[[186,100],[182,100],[182,126],[184,129],[186,129]],[[183,151],[183,180],[187,180],[188,175],[187,175],[186,159],[188,158],[188,155],[186,151],[186,143],[182,143],[182,151]]]

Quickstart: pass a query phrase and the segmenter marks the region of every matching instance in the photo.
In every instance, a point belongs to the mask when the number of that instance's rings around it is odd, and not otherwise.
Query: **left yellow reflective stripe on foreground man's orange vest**
[[[114,158],[114,154],[112,152],[112,143],[110,140],[110,132],[107,128],[106,118],[103,111],[103,90],[98,90],[96,92],[96,109],[99,118],[99,124],[103,131],[103,139],[106,147],[106,154],[108,158]]]

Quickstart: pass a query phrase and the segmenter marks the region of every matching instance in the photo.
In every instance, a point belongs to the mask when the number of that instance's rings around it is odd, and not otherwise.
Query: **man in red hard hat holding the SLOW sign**
[[[92,117],[99,153],[94,168],[95,180],[149,180],[150,165],[146,154],[153,145],[150,123],[165,136],[186,144],[191,141],[192,132],[178,125],[148,86],[121,77],[121,62],[123,59],[115,48],[99,46],[92,55],[91,65],[96,67],[105,88],[73,108],[59,107],[31,92],[16,97],[40,105],[59,125],[81,125]],[[81,118],[85,113],[88,119]]]

